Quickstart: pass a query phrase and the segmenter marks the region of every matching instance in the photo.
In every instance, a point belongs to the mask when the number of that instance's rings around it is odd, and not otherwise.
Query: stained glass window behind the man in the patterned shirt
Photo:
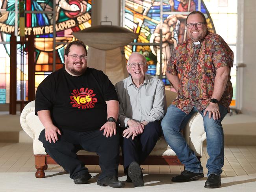
[[[124,0],[123,26],[139,34],[131,45],[125,47],[126,59],[135,51],[145,55],[148,61],[147,74],[158,76],[165,85],[169,85],[165,76],[166,65],[176,45],[188,38],[185,31],[186,17],[191,11],[201,11],[206,17],[208,30],[221,35],[234,51],[236,64],[237,0],[162,2],[161,10],[160,0]],[[236,67],[232,68],[231,75],[235,99]]]

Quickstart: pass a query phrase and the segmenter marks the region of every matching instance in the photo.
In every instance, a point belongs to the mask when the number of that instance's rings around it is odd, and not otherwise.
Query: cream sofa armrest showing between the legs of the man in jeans
[[[206,139],[202,115],[195,113],[183,130],[184,137],[191,150],[195,151],[197,156],[202,156],[203,141]]]

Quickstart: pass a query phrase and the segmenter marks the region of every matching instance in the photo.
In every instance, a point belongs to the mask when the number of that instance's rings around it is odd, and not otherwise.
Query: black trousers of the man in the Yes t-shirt
[[[85,164],[78,159],[76,152],[84,149],[99,155],[102,173],[98,180],[109,176],[117,176],[119,164],[119,134],[106,138],[103,131],[78,132],[62,129],[58,141],[50,143],[45,139],[45,129],[41,131],[39,140],[43,142],[46,153],[54,159],[74,179],[78,175],[88,174]]]

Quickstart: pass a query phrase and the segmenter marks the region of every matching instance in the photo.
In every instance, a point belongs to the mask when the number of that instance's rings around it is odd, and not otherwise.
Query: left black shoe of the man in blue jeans
[[[180,175],[173,177],[173,182],[187,182],[187,181],[195,181],[204,177],[203,173],[193,173],[188,170],[184,170]]]

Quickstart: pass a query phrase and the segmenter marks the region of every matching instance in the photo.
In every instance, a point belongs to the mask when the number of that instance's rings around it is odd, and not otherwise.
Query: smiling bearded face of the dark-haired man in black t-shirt
[[[71,45],[69,49],[69,55],[64,55],[65,57],[65,70],[72,76],[82,75],[87,68],[86,58],[77,59],[73,58],[70,55],[86,55],[85,49],[83,46]]]

